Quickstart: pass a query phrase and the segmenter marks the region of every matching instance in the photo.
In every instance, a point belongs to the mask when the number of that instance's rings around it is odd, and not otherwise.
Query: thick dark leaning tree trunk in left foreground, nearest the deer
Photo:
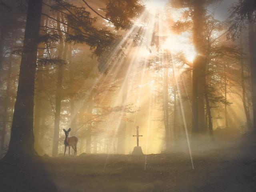
[[[28,1],[18,90],[6,157],[19,158],[36,154],[33,134],[34,81],[41,12],[42,0]]]

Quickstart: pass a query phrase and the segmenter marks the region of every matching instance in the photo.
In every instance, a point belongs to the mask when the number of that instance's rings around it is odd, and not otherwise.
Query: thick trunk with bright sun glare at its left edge
[[[204,122],[204,52],[205,44],[203,39],[203,25],[205,8],[204,0],[197,0],[194,2],[194,16],[193,16],[193,43],[196,49],[196,57],[193,61],[192,71],[192,113],[193,134],[199,133],[205,128]]]

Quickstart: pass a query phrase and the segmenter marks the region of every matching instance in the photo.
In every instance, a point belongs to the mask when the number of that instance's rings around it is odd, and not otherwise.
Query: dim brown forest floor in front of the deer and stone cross
[[[49,157],[41,168],[58,192],[256,192],[254,136],[200,149],[193,152],[194,170],[184,152]]]

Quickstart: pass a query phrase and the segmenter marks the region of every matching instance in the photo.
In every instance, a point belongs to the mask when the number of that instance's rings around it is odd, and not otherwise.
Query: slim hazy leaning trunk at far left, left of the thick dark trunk
[[[6,126],[8,122],[8,107],[10,105],[10,84],[11,84],[11,74],[12,74],[12,54],[10,53],[9,59],[8,59],[9,65],[8,65],[8,74],[6,76],[7,82],[6,82],[6,95],[4,97],[4,122],[3,122],[3,128],[1,132],[1,155],[4,154],[4,146],[5,146],[5,136],[6,136]]]

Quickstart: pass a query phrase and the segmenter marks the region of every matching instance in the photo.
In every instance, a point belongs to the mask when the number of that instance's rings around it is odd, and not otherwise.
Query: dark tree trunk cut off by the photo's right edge
[[[253,17],[253,15],[251,16]],[[250,68],[252,81],[253,130],[256,132],[256,37],[255,22],[249,23]]]

